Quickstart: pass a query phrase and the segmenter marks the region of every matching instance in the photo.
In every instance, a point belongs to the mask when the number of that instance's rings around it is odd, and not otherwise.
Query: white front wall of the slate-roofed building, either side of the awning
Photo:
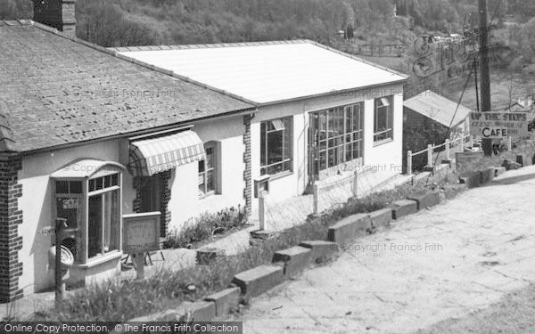
[[[185,221],[203,212],[216,212],[222,208],[242,207],[251,203],[244,192],[246,188],[246,164],[243,159],[248,138],[249,115],[237,115],[192,122],[193,131],[203,143],[218,145],[221,157],[220,193],[199,198],[198,164],[189,163],[168,172],[170,196],[164,216],[169,217],[168,230],[179,229]],[[53,286],[53,271],[49,269],[48,250],[53,244],[54,217],[53,180],[50,175],[77,159],[114,161],[128,167],[128,139],[115,139],[101,143],[87,143],[57,151],[47,151],[21,159],[4,158],[0,161],[0,210],[2,222],[0,238],[9,240],[0,249],[0,301],[9,301],[32,292]],[[135,177],[123,173],[123,215],[136,211]],[[164,191],[165,192],[165,191]],[[8,270],[9,268],[9,270]],[[120,273],[119,258],[98,265],[86,277],[86,283],[103,280]]]

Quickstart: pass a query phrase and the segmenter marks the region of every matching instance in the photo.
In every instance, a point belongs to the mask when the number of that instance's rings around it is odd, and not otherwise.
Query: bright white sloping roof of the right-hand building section
[[[260,104],[387,85],[407,78],[307,40],[112,50]]]

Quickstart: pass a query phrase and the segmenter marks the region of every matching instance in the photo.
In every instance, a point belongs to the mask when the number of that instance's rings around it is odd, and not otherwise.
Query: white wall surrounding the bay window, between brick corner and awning
[[[25,294],[53,285],[52,271],[48,271],[48,249],[52,246],[53,235],[42,234],[46,227],[53,226],[52,217],[52,180],[50,174],[76,159],[101,159],[119,161],[126,165],[119,147],[125,147],[124,141],[87,144],[81,147],[64,149],[29,156],[22,159],[19,183],[22,184],[22,197],[19,209],[23,212],[19,235],[22,236],[22,248],[19,261],[23,263],[19,286]],[[132,212],[134,191],[132,179],[128,173],[123,174],[123,212]]]

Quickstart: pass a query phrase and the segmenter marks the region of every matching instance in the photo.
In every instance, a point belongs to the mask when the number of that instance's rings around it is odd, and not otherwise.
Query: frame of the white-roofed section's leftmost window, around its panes
[[[282,124],[289,125],[288,128],[284,126],[282,129],[277,129],[276,126],[274,126],[273,129],[268,130],[268,125],[273,125],[275,122],[279,124],[282,122]],[[268,164],[268,139],[269,134],[276,134],[277,132],[281,133],[281,155],[282,159],[280,161],[276,161],[274,163]],[[288,136],[288,147],[286,148],[286,136]],[[286,151],[287,150],[287,151]],[[288,158],[286,158],[288,157]],[[281,166],[281,170],[270,174],[268,173],[270,168]],[[286,168],[286,166],[288,166]],[[286,175],[286,174],[292,174],[293,173],[293,117],[288,116],[284,118],[273,118],[268,119],[260,122],[260,175],[271,175],[271,176],[277,176],[277,175]]]

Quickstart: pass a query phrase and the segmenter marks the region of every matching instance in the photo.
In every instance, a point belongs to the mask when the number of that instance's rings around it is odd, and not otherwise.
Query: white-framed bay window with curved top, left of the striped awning
[[[53,220],[78,228],[62,241],[79,268],[98,265],[121,255],[121,184],[125,168],[111,161],[78,160],[54,172]],[[113,253],[113,254],[111,254]],[[109,256],[107,256],[109,254]]]

